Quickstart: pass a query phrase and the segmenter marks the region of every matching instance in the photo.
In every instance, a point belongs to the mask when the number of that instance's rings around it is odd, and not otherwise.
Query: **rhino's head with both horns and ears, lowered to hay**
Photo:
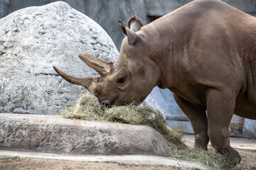
[[[100,77],[72,77],[53,67],[66,81],[85,86],[105,106],[120,106],[133,101],[142,103],[161,77],[159,66],[149,57],[147,37],[140,30],[141,21],[132,17],[128,21],[129,28],[121,20],[119,26],[127,37],[122,41],[119,57],[114,63],[89,54],[79,55]]]

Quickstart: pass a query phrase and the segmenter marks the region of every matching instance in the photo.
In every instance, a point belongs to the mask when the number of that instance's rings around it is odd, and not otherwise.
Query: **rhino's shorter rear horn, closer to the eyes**
[[[105,76],[108,72],[110,72],[112,67],[112,62],[106,62],[105,60],[95,57],[94,55],[81,54],[78,55],[78,57],[80,57],[80,59],[89,67],[95,69],[100,76]]]

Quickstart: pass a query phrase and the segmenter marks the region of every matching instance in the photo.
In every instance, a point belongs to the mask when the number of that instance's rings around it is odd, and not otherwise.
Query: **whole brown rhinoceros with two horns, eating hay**
[[[218,0],[196,0],[156,21],[119,21],[117,60],[80,59],[100,77],[65,80],[85,86],[106,106],[141,103],[154,86],[168,88],[193,126],[195,147],[213,147],[240,161],[230,147],[233,113],[256,119],[256,18]],[[207,111],[207,113],[206,113]]]

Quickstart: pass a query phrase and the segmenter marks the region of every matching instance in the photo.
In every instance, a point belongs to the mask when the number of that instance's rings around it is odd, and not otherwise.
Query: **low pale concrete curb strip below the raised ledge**
[[[11,159],[11,161],[8,161]],[[19,152],[10,150],[0,150],[0,169],[1,162],[11,164],[19,160],[20,162],[41,160],[68,161],[68,162],[96,162],[96,163],[117,163],[151,166],[170,166],[174,169],[206,169],[206,167],[194,162],[178,161],[166,157],[150,155],[75,155],[75,154],[51,154],[42,152]],[[53,164],[53,162],[51,162]],[[24,163],[25,164],[25,163]],[[4,169],[8,167],[4,167]],[[28,167],[27,167],[28,168]],[[103,168],[104,169],[104,168]]]

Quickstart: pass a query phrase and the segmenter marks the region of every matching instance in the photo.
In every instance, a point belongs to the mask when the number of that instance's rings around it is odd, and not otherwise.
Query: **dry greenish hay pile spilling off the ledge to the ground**
[[[95,96],[85,94],[75,106],[61,111],[60,115],[71,119],[147,125],[158,130],[168,141],[168,157],[205,164],[209,169],[235,169],[230,157],[215,153],[214,150],[188,149],[181,140],[183,133],[167,127],[163,115],[151,108],[141,108],[133,103],[102,108]]]

